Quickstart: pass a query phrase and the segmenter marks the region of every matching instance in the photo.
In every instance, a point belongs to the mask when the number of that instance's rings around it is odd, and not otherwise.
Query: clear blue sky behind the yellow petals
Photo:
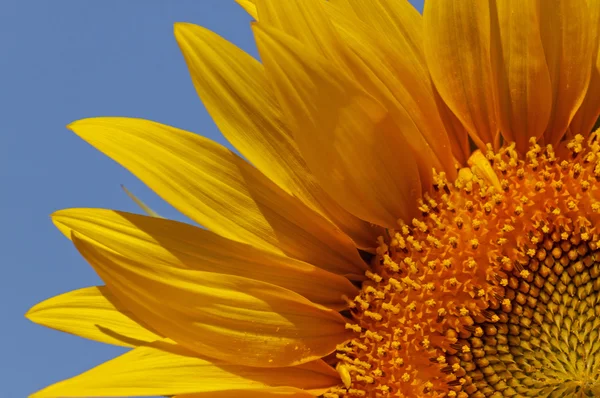
[[[250,17],[233,0],[0,4],[0,397],[21,398],[123,352],[23,317],[48,297],[100,283],[49,215],[68,207],[139,212],[124,184],[161,215],[182,219],[64,126],[143,117],[225,143],[196,96],[173,23],[256,49]]]

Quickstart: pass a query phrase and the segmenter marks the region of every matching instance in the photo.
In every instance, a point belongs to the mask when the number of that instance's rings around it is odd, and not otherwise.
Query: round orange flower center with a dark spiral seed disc
[[[381,237],[325,397],[600,396],[600,144],[443,173]]]

